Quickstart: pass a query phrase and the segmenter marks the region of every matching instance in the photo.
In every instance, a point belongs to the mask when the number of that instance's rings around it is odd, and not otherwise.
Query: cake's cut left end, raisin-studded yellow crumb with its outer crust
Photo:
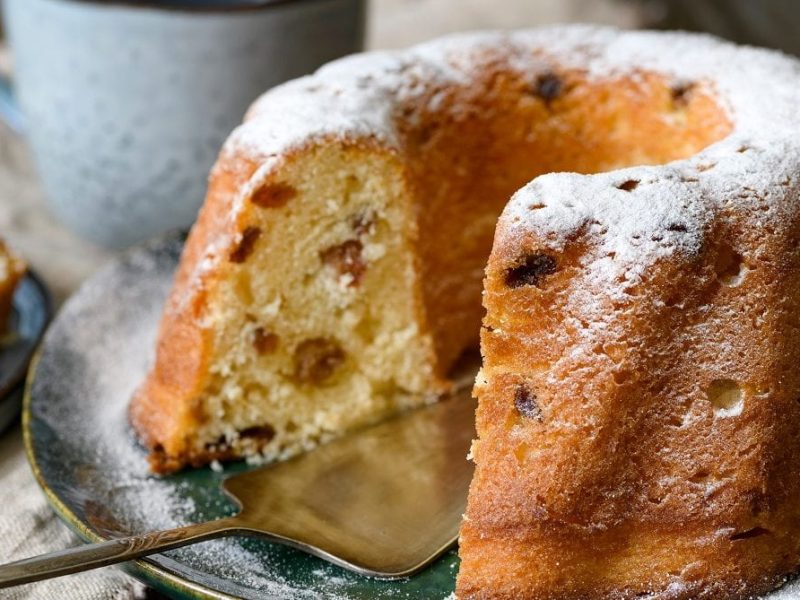
[[[251,175],[217,167],[133,405],[157,471],[276,458],[447,388],[396,158],[335,144]]]

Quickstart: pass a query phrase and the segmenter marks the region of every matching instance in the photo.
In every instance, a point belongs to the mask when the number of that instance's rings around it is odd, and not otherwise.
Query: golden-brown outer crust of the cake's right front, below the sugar
[[[459,598],[747,598],[800,567],[800,216],[784,177],[735,206],[705,190],[696,251],[642,252],[625,293],[613,270],[588,275],[604,258],[592,233],[556,250],[563,232],[501,220]],[[557,269],[509,279],[543,253]]]

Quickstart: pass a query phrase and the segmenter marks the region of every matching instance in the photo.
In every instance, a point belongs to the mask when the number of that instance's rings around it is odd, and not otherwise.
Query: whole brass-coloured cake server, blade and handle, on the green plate
[[[227,478],[234,516],[112,539],[0,566],[0,588],[104,567],[230,535],[293,546],[396,579],[457,539],[473,467],[475,403],[462,390],[316,450]]]

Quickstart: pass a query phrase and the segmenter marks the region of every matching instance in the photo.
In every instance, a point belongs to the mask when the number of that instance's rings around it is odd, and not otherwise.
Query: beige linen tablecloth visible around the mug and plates
[[[614,0],[372,0],[368,45],[400,47],[468,29],[584,21],[631,26]],[[7,59],[0,51],[0,65]],[[0,124],[0,236],[63,301],[111,255],[65,231],[47,212],[23,142]],[[0,434],[0,562],[66,548],[78,538],[58,520],[31,475],[19,426]],[[3,600],[130,600],[144,587],[116,568],[0,590]]]

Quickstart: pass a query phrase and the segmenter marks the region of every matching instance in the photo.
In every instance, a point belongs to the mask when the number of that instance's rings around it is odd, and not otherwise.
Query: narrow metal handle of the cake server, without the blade
[[[0,565],[0,589],[133,560],[213,538],[243,533],[236,517],[67,548]]]

